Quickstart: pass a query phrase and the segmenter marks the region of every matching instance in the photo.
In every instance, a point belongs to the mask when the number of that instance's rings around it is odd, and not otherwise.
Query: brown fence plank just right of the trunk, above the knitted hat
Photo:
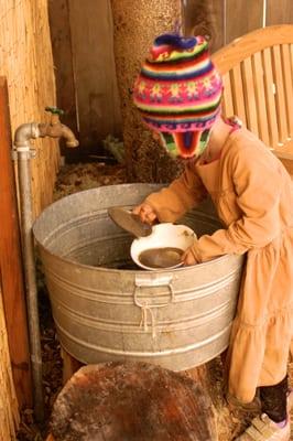
[[[184,33],[204,35],[210,53],[224,45],[225,0],[188,0],[184,2]]]

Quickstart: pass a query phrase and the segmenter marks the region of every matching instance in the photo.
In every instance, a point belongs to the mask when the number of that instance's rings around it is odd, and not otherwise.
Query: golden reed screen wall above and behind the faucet
[[[50,40],[47,0],[1,0],[0,75],[9,87],[12,133],[24,122],[48,120],[45,106],[55,105],[55,80]],[[12,136],[13,138],[13,136]],[[35,214],[52,201],[58,166],[57,142],[33,141]]]

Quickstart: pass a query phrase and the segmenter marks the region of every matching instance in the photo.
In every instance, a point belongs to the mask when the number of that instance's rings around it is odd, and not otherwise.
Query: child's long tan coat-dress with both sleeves
[[[219,160],[194,162],[148,202],[161,222],[174,222],[209,193],[226,228],[202,236],[193,252],[204,262],[247,252],[228,353],[230,394],[253,399],[258,386],[286,375],[293,319],[293,185],[274,154],[240,129]]]

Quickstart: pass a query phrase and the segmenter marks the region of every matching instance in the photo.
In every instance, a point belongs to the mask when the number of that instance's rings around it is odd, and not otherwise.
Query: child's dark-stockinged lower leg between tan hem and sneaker
[[[287,418],[287,376],[274,386],[263,386],[259,388],[261,399],[261,410],[274,422],[285,421]]]

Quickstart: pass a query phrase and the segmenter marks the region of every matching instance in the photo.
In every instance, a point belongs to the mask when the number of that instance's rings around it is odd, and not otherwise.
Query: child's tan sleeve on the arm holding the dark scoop
[[[167,187],[146,197],[160,222],[175,222],[188,209],[198,205],[207,191],[196,174],[194,163],[186,165],[184,173]]]

